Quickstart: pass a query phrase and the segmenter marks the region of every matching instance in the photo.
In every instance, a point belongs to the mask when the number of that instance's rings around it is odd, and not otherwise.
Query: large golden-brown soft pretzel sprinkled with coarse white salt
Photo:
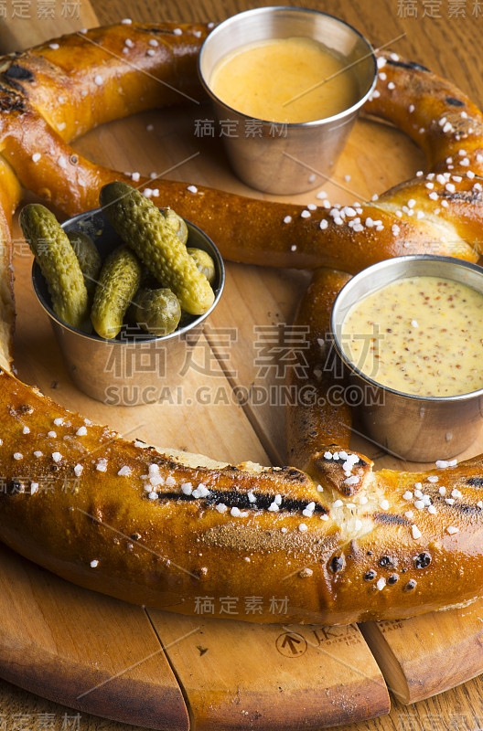
[[[288,414],[295,468],[163,455],[70,413],[11,373],[9,242],[22,186],[71,215],[95,207],[101,185],[129,182],[82,158],[70,141],[96,124],[180,101],[180,91],[199,96],[196,60],[208,32],[123,23],[0,59],[0,474],[8,484],[0,537],[83,587],[182,613],[196,612],[197,598],[255,597],[262,612],[246,619],[276,621],[268,607],[283,596],[285,621],[349,623],[476,599],[482,457],[432,471],[373,471],[349,450],[348,410],[312,405]],[[317,338],[347,280],[336,270],[412,252],[478,258],[481,113],[417,64],[383,54],[378,66],[367,110],[421,144],[431,172],[376,201],[313,210],[138,181],[156,203],[204,228],[229,259],[317,270],[298,322],[311,326],[308,382],[321,394]],[[76,493],[62,489],[73,476]],[[53,492],[39,489],[45,479]]]

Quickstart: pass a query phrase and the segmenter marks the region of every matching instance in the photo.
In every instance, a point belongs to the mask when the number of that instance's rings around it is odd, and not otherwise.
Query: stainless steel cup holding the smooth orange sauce
[[[257,132],[252,133],[253,120],[211,91],[212,71],[236,48],[295,36],[313,38],[345,58],[356,74],[359,98],[349,109],[322,120],[289,124],[257,120]],[[218,119],[231,122],[228,129],[234,133],[222,139],[236,175],[265,193],[294,194],[317,187],[330,175],[360,107],[374,89],[377,65],[369,41],[343,20],[309,8],[274,6],[247,10],[220,23],[201,48],[199,76]],[[284,83],[275,78],[275,71],[274,82]]]

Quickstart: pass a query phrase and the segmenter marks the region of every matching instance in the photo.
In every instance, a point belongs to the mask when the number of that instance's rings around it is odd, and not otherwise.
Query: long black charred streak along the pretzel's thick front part
[[[248,498],[248,493],[239,493],[236,490],[209,490],[209,494],[204,498],[195,498],[193,495],[185,493],[158,493],[158,500],[176,500],[176,501],[202,501],[206,505],[216,505],[217,503],[224,503],[229,508],[240,508],[241,510],[268,510],[270,505],[274,503],[275,495],[267,493],[259,493],[252,491],[256,502],[251,503]],[[305,510],[310,500],[295,500],[295,498],[282,497],[282,502],[278,505],[279,511],[285,511],[287,513],[294,513],[295,511]],[[324,505],[316,503],[314,513],[327,514],[327,510]]]

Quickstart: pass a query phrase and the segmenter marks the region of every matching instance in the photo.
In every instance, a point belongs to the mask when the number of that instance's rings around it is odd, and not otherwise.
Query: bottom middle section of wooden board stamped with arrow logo
[[[381,672],[355,625],[260,627],[205,616],[175,620],[153,609],[149,616],[198,731],[315,731],[389,711]],[[190,630],[187,640],[173,642]]]

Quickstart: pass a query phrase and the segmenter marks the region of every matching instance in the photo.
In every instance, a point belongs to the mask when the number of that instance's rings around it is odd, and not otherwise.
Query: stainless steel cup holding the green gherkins
[[[171,389],[180,385],[183,367],[189,363],[189,351],[197,344],[206,319],[220,301],[225,279],[223,261],[214,243],[193,223],[186,219],[184,223],[188,228],[187,247],[206,252],[214,264],[214,275],[210,277],[213,302],[201,314],[182,312],[177,328],[169,334],[157,336],[146,332],[134,321],[133,315],[130,321],[124,318],[120,332],[109,339],[102,338],[94,330],[83,332],[66,324],[54,312],[51,290],[38,262],[34,261],[32,281],[38,302],[48,314],[72,381],[88,396],[112,406],[137,406],[159,402],[163,394],[166,397],[166,387]],[[102,208],[72,217],[61,228],[71,240],[73,233],[91,238],[104,263],[124,243]],[[99,281],[102,281],[102,273]],[[161,288],[163,283],[156,283],[152,274],[145,270],[141,286],[148,288],[144,291],[149,293],[149,288]],[[96,294],[93,297],[95,301]],[[142,312],[139,306],[136,309],[137,313]],[[133,303],[128,313],[135,313]],[[88,324],[85,329],[90,329]]]

